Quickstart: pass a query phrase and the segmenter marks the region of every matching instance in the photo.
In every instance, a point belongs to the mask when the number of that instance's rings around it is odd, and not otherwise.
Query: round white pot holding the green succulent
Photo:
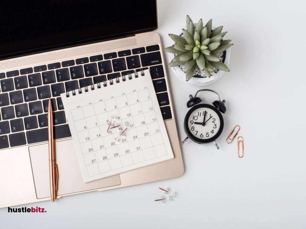
[[[196,24],[195,24],[195,26],[196,26]],[[187,29],[187,28],[185,26],[182,29]],[[177,31],[176,35],[181,36],[182,29]],[[212,29],[215,29],[215,27],[212,27]],[[175,44],[175,42],[173,40],[171,40],[170,46],[172,46],[174,44]],[[225,54],[224,64],[226,66],[228,66],[228,64],[230,63],[230,49],[227,49],[225,52],[226,52],[226,54]],[[171,62],[171,60],[174,57],[175,57],[175,55],[173,53],[169,53],[169,62]],[[198,86],[198,87],[202,87],[202,86],[212,84],[213,82],[216,82],[224,74],[224,71],[219,70],[214,75],[211,75],[210,78],[208,78],[208,77],[205,77],[205,78],[192,77],[189,81],[186,81],[186,74],[184,73],[184,71],[181,70],[181,68],[179,66],[171,67],[171,69],[179,79],[181,79],[182,81],[184,81],[185,83],[187,83],[189,85]]]

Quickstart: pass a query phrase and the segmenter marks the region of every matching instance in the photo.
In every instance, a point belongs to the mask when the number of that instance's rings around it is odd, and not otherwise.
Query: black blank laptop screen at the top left
[[[157,28],[155,0],[0,3],[0,59]]]

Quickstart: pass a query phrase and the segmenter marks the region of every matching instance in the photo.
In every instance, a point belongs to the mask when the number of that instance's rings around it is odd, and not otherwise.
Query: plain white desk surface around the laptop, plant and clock
[[[225,127],[213,144],[182,146],[183,176],[111,191],[39,202],[45,214],[7,213],[2,228],[305,228],[305,3],[297,1],[159,0],[163,46],[168,33],[213,19],[231,39],[230,72],[208,86],[226,99]],[[167,58],[167,55],[166,59]],[[168,60],[167,60],[168,61]],[[189,94],[168,68],[180,139]],[[211,93],[200,95],[211,103]],[[225,139],[241,125],[244,158]],[[158,187],[177,192],[173,202],[154,202]],[[27,207],[35,204],[24,205]],[[51,220],[56,221],[52,223]]]

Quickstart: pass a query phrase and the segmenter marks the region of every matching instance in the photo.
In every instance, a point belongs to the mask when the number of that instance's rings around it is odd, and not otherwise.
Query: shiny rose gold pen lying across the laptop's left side
[[[50,193],[51,201],[56,199],[56,191],[58,185],[58,167],[55,161],[55,149],[53,140],[53,113],[51,99],[48,104],[48,141],[49,141],[49,175],[50,175]]]

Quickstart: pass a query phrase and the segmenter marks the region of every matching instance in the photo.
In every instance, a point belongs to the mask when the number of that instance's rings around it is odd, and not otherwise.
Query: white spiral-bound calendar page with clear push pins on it
[[[85,183],[174,158],[149,70],[61,97]]]

